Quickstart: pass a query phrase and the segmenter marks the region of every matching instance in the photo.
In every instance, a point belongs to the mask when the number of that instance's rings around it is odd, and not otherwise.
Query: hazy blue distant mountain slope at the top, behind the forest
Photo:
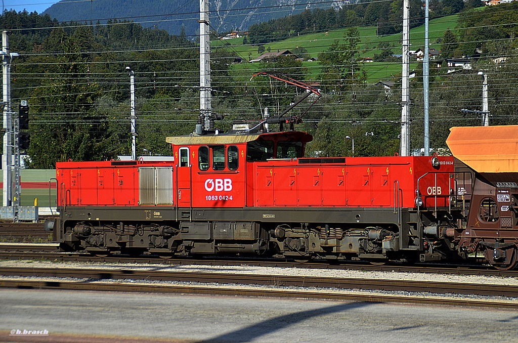
[[[226,32],[232,29],[244,31],[251,24],[270,19],[291,16],[305,9],[338,8],[349,1],[326,0],[214,0],[210,6],[212,30]],[[199,24],[199,0],[171,2],[169,0],[62,0],[52,5],[43,14],[59,21],[102,23],[115,18],[141,22],[144,27],[157,27],[169,34],[180,34],[182,25],[185,33],[195,35]]]

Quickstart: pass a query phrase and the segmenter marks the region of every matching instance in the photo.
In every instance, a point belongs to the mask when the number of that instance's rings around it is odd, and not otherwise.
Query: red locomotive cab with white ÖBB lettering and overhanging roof
[[[168,137],[178,161],[178,206],[247,206],[251,164],[302,158],[311,139],[310,134],[295,131]]]

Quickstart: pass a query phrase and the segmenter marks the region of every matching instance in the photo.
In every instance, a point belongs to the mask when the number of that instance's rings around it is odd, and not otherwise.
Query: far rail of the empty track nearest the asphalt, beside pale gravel
[[[236,283],[275,287],[316,287],[328,289],[358,289],[372,291],[401,291],[438,294],[471,294],[481,296],[506,296],[518,298],[516,285],[477,284],[460,282],[389,280],[370,278],[337,278],[312,276],[283,276],[257,274],[226,274],[178,272],[167,270],[98,269],[98,268],[46,268],[0,267],[0,275],[59,277],[91,280],[147,280],[199,283]],[[518,305],[518,302],[516,303]]]

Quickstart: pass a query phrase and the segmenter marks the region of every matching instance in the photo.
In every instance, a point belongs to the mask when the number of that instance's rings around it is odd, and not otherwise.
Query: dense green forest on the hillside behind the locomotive
[[[444,5],[444,2],[443,2]],[[458,27],[442,39],[443,53],[462,56],[480,51],[471,69],[447,74],[431,68],[431,146],[444,147],[451,126],[479,125],[479,71],[490,79],[490,122],[517,123],[518,3],[459,12]],[[137,154],[167,155],[165,137],[193,131],[199,115],[199,48],[196,41],[169,35],[139,23],[112,20],[108,24],[58,23],[37,13],[5,11],[0,26],[10,31],[10,51],[20,56],[11,64],[13,104],[27,100],[32,168],[53,168],[56,161],[106,160],[129,154],[131,147],[130,77],[135,73]],[[274,32],[273,30],[270,33]],[[257,120],[268,107],[282,112],[302,94],[282,82],[253,72],[275,70],[299,80],[321,82],[323,96],[305,115],[297,130],[314,135],[313,155],[351,155],[346,136],[355,139],[355,155],[392,155],[399,151],[400,86],[369,84],[358,61],[359,31],[346,30],[342,42],[322,47],[318,79],[309,80],[301,61],[234,64],[231,46],[211,51],[212,108],[224,114],[217,122],[228,130],[233,120]],[[257,46],[250,45],[251,49]],[[399,63],[399,62],[390,62]],[[411,147],[423,145],[422,70],[411,82]],[[400,83],[399,83],[400,84]],[[308,104],[300,106],[304,112]],[[16,108],[16,106],[15,106]]]

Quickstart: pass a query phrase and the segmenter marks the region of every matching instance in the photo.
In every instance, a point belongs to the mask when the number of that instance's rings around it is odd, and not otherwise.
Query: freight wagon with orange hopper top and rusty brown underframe
[[[518,263],[517,125],[452,127],[447,144],[474,171],[466,229],[459,246],[482,251],[498,269]]]

